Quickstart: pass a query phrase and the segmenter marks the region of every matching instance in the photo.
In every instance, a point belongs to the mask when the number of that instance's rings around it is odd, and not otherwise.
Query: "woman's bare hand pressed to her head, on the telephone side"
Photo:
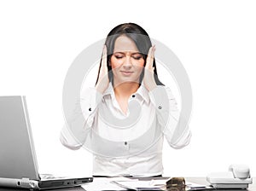
[[[144,70],[145,72],[144,72],[143,84],[148,91],[153,90],[157,86],[154,80],[154,67],[153,67],[154,51],[155,51],[155,45],[150,47],[150,49],[148,50],[148,57],[147,57],[146,66]]]

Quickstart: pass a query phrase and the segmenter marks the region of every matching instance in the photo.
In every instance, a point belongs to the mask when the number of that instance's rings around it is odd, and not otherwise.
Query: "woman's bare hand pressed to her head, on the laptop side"
[[[104,45],[102,54],[102,63],[100,68],[99,78],[96,84],[96,90],[100,93],[104,93],[108,89],[109,78],[108,78],[108,66],[107,66],[107,46]]]

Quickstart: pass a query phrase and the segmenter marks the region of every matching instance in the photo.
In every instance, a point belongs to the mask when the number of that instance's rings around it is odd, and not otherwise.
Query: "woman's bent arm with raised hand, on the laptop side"
[[[67,148],[79,149],[90,138],[97,106],[102,101],[103,92],[108,89],[108,83],[107,47],[104,45],[96,87],[82,92],[82,98],[77,101],[72,116],[61,130],[61,143]]]

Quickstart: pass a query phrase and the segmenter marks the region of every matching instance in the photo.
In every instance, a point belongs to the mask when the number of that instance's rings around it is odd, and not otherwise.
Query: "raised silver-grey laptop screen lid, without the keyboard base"
[[[39,178],[25,96],[0,96],[0,177]]]

